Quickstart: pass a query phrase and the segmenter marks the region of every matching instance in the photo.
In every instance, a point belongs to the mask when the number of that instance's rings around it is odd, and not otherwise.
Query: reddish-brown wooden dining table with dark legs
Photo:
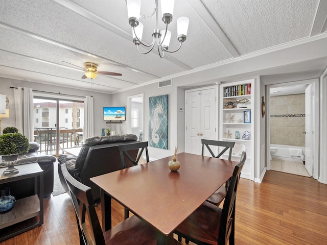
[[[90,180],[101,190],[102,230],[111,229],[111,199],[128,208],[157,231],[157,244],[169,244],[174,230],[233,173],[236,161],[179,153],[128,167]]]

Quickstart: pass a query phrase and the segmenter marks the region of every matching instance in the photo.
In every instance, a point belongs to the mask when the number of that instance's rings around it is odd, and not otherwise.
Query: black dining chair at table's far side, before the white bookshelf
[[[234,147],[235,142],[208,140],[208,139],[202,139],[201,142],[202,142],[202,156],[204,154],[204,146],[206,146],[206,148],[208,149],[210,154],[216,158],[220,158],[226,151],[229,150],[228,160],[229,161],[231,160],[232,148]],[[216,156],[214,154],[214,152],[212,151],[212,149],[210,148],[210,145],[223,147],[223,150]],[[221,186],[214,194],[212,194],[211,197],[209,197],[206,201],[219,206],[226,196],[227,189],[228,189],[228,183],[229,183],[229,180],[225,183],[225,185]]]

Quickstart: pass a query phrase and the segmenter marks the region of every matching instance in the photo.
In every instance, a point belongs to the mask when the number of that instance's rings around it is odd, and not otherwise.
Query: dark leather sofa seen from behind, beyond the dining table
[[[100,198],[100,188],[90,181],[91,177],[103,175],[122,169],[118,145],[135,143],[137,136],[133,134],[114,135],[114,136],[95,136],[85,140],[79,155],[58,156],[58,173],[62,186],[67,190],[65,180],[61,173],[61,164],[65,164],[69,174],[79,182],[91,187],[94,200]],[[136,158],[137,150],[129,152]],[[128,158],[125,158],[126,167],[133,166]]]

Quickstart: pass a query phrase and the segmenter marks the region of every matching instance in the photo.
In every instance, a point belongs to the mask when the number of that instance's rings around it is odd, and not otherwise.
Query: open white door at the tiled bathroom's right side
[[[306,88],[306,169],[310,176],[313,175],[313,84]]]

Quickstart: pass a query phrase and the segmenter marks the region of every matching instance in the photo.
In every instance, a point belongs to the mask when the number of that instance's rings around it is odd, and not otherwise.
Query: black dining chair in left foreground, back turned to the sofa
[[[93,204],[91,188],[74,179],[64,164],[61,165],[61,171],[73,201],[80,244],[157,244],[157,231],[136,215],[124,219],[103,233]],[[172,245],[180,244],[173,237],[168,242]]]

